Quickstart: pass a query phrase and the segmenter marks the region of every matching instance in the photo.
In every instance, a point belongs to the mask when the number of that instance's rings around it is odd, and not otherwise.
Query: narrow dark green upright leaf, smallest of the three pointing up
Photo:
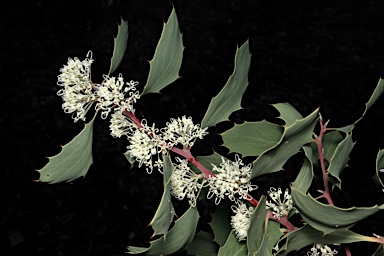
[[[113,55],[111,58],[111,65],[109,67],[108,75],[114,72],[120,65],[121,60],[124,57],[125,50],[127,48],[128,41],[128,23],[121,20],[121,24],[118,25],[117,37],[114,38]]]

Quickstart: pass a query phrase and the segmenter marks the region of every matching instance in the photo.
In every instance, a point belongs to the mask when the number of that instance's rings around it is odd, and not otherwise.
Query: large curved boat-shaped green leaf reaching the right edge
[[[316,201],[296,188],[291,188],[293,205],[303,220],[324,234],[346,230],[356,222],[380,211],[382,206],[339,208]]]

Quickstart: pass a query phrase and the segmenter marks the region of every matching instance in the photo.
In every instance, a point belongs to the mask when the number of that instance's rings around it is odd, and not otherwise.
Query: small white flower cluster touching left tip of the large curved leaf
[[[284,198],[281,200],[281,188],[277,190],[273,187],[268,191],[269,197],[272,201],[267,200],[266,208],[273,212],[273,217],[275,219],[280,219],[281,216],[287,216],[289,211],[292,209],[292,198],[288,192],[288,189],[284,192]]]

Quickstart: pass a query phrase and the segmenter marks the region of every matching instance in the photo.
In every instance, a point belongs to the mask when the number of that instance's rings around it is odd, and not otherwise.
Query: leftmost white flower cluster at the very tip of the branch
[[[74,122],[85,121],[85,115],[96,100],[91,82],[92,52],[89,51],[85,60],[68,59],[67,65],[60,69],[57,84],[64,86],[57,92],[64,103],[65,113],[72,113]]]

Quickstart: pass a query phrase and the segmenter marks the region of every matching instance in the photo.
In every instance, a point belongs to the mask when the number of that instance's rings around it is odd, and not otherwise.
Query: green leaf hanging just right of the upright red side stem
[[[352,141],[351,134],[347,133],[347,136],[336,147],[334,154],[330,160],[328,167],[328,173],[332,175],[334,179],[330,179],[332,187],[337,186],[341,189],[340,173],[347,166],[349,155],[353,149],[355,143]]]

